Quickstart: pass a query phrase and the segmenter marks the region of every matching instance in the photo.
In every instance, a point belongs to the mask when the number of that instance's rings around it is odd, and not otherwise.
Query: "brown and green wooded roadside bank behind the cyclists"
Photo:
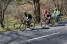
[[[64,0],[64,1],[59,0],[60,3],[64,3],[65,1],[66,0]],[[33,19],[36,20],[36,22],[37,22],[36,25],[37,25],[39,22],[40,15],[43,14],[42,11],[44,10],[44,8],[48,8],[52,12],[53,8],[55,8],[55,4],[57,4],[57,3],[59,4],[59,2],[57,2],[57,0],[54,0],[54,1],[39,0],[39,2],[36,2],[34,0],[16,0],[16,1],[11,0],[9,3],[8,3],[8,0],[7,0],[7,2],[3,1],[3,3],[6,3],[8,5],[7,5],[5,12],[3,12],[4,17],[2,16],[0,19],[0,21],[3,22],[2,24],[0,23],[1,24],[0,32],[23,29],[24,25],[22,24],[21,20],[23,19],[24,12],[30,12],[33,16]],[[0,3],[0,4],[2,4],[2,3]],[[36,6],[35,4],[38,4],[38,6]],[[60,7],[59,7],[59,8],[62,8],[62,13],[64,14],[64,16],[61,17],[62,21],[64,19],[67,19],[67,8],[66,7],[67,7],[66,2],[64,4],[62,4],[62,6],[60,4]],[[1,8],[0,8],[0,10],[1,10]],[[36,8],[38,8],[38,9],[36,9]],[[35,11],[35,13],[34,13],[34,11]],[[0,12],[0,14],[1,14],[1,12]],[[36,18],[35,18],[35,16],[36,16]],[[55,22],[53,22],[53,23],[55,23]]]

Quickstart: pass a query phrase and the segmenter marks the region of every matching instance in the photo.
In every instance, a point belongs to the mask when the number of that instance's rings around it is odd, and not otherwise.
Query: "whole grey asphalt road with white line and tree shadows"
[[[67,26],[24,32],[0,32],[0,44],[64,44],[66,42]]]

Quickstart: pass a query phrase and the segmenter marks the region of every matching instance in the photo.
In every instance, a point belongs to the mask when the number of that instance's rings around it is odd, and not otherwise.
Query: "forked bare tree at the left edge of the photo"
[[[0,24],[1,27],[4,28],[4,15],[5,15],[5,11],[8,7],[8,5],[10,4],[10,2],[12,2],[13,0],[0,0]]]

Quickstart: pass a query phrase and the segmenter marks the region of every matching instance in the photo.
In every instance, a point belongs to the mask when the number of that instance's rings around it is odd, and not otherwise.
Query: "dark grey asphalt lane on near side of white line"
[[[23,44],[67,44],[67,31],[47,37],[33,38]]]

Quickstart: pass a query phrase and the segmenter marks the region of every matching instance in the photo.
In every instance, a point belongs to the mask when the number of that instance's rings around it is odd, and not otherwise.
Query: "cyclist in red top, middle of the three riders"
[[[49,10],[48,9],[45,9],[43,11],[42,22],[44,23],[45,27],[46,27],[47,24],[50,23],[50,15],[49,15]]]

